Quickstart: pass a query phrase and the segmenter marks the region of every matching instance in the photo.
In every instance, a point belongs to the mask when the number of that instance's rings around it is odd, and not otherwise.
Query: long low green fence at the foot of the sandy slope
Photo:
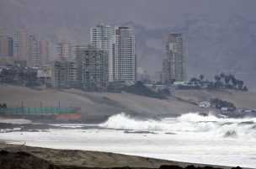
[[[75,112],[76,112],[76,108],[58,108],[58,107],[0,108],[0,114],[70,114]]]

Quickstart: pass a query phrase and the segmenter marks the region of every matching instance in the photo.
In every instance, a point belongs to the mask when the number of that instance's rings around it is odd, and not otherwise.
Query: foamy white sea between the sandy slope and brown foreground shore
[[[256,118],[213,114],[134,119],[116,114],[102,124],[53,124],[61,129],[3,132],[13,144],[108,151],[172,161],[256,168]]]

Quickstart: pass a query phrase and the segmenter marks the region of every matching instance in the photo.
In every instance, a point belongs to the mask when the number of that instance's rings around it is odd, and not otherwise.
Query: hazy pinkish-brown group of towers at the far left
[[[46,40],[38,40],[24,29],[13,33],[13,37],[0,34],[0,59],[30,67],[40,67],[50,63],[49,45]]]

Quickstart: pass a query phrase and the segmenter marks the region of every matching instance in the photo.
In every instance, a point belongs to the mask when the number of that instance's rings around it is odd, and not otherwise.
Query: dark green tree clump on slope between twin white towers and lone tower
[[[145,96],[148,98],[159,98],[159,99],[166,99],[171,93],[168,89],[158,90],[157,92],[152,91],[151,89],[147,88],[142,82],[136,82],[134,85],[130,87],[124,87],[123,91],[131,92],[136,95]]]

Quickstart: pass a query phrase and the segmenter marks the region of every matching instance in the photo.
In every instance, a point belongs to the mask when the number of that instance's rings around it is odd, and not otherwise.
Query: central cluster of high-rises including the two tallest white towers
[[[57,42],[54,86],[105,91],[108,84],[136,82],[135,36],[131,28],[99,24],[91,29],[90,45]]]

